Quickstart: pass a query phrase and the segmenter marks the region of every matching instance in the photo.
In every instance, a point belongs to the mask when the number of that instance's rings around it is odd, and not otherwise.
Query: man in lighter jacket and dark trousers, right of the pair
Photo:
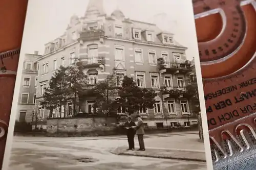
[[[134,128],[136,130],[136,134],[138,136],[139,145],[140,145],[140,149],[138,149],[137,151],[145,151],[145,145],[144,145],[144,139],[143,139],[143,135],[145,134],[143,120],[141,119],[140,115],[136,115],[136,118],[138,123]]]

